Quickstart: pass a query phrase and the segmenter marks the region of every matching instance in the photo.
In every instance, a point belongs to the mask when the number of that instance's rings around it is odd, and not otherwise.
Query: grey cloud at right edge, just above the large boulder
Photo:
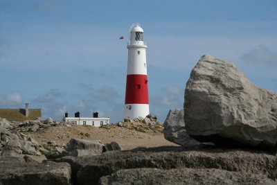
[[[277,53],[273,53],[267,47],[261,45],[244,54],[242,59],[256,64],[277,64]]]

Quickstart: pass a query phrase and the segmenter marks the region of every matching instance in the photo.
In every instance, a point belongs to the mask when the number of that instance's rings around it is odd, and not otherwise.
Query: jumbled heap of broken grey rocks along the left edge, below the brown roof
[[[37,130],[44,130],[47,127],[66,125],[67,123],[60,123],[59,121],[52,121],[52,123],[44,124],[37,118],[33,121],[7,121],[0,118],[0,154],[1,156],[18,157],[20,155],[42,155],[47,157],[55,156],[62,157],[69,155],[69,152],[64,150],[65,146],[57,145],[55,141],[44,141],[39,144],[35,139],[28,136],[28,132],[37,132]],[[26,132],[23,134],[22,132]]]

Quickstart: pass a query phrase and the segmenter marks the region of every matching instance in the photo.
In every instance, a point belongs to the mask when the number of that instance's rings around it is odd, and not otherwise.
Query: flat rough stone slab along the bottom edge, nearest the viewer
[[[276,184],[265,175],[238,173],[218,169],[178,168],[136,168],[118,170],[112,175],[101,177],[101,185],[120,184]]]

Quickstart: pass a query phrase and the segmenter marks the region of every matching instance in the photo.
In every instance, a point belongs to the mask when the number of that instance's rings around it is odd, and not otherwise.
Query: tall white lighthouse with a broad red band
[[[143,28],[139,24],[132,26],[129,35],[125,117],[144,118],[149,114],[147,46],[143,40]]]

